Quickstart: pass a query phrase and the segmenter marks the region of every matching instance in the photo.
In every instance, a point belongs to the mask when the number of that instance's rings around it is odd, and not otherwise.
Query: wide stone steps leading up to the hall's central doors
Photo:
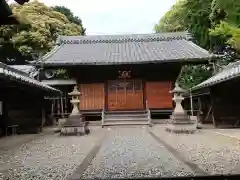
[[[150,112],[148,110],[102,112],[102,127],[117,125],[151,125]]]

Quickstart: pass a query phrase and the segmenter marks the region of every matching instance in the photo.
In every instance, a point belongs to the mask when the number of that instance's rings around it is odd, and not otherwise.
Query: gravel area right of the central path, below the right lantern
[[[211,130],[177,135],[166,132],[163,126],[154,126],[152,132],[209,174],[240,173],[240,141],[236,139]]]

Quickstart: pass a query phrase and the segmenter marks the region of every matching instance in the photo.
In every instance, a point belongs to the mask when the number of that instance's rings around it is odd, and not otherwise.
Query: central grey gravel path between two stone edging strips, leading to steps
[[[113,128],[82,178],[194,175],[145,128]]]

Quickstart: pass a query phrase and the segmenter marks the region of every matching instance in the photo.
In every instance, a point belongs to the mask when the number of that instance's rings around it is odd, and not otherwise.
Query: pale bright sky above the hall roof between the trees
[[[87,35],[152,33],[176,0],[39,0],[82,19]]]

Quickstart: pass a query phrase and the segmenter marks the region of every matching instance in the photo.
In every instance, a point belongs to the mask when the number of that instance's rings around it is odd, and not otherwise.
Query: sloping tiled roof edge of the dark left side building
[[[16,80],[21,83],[26,83],[29,85],[36,86],[38,88],[41,88],[43,90],[47,91],[54,91],[54,92],[61,92],[58,89],[55,89],[51,86],[48,86],[46,84],[43,84],[34,78],[29,77],[29,75],[23,71],[14,69],[6,64],[0,63],[0,77],[10,77],[11,80]]]

